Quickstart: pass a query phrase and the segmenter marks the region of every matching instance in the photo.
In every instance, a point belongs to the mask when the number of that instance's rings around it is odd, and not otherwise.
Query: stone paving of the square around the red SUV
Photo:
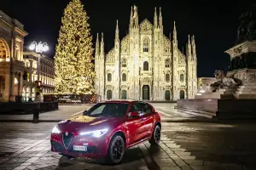
[[[159,105],[161,111],[165,110],[164,107],[167,106]],[[72,108],[72,112],[68,114],[67,108],[69,112]],[[61,106],[60,111],[45,114],[51,119],[64,119],[83,110],[84,106]],[[172,114],[172,108],[164,113],[160,145],[152,147],[145,142],[134,146],[126,151],[124,161],[117,166],[84,158],[68,160],[51,152],[49,134],[55,122],[0,121],[0,170],[256,169],[255,122],[213,123],[203,122],[204,119],[200,119],[202,122],[172,122],[173,117],[187,120],[188,116],[179,116],[178,112]],[[46,115],[41,117],[47,120]]]

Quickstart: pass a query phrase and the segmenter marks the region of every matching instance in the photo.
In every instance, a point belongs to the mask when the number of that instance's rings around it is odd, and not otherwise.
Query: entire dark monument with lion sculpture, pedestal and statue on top
[[[212,88],[236,87],[216,93],[177,100],[177,109],[228,118],[256,118],[256,5],[241,14],[237,41],[230,54],[227,77],[212,84]],[[219,72],[218,72],[219,73]],[[218,74],[216,74],[219,76]],[[237,82],[241,82],[237,84]],[[237,87],[238,86],[238,87]],[[231,99],[233,97],[233,99]],[[230,98],[230,99],[229,99]]]

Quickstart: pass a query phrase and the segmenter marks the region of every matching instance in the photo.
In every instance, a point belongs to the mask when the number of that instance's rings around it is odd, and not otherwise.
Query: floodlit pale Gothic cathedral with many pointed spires
[[[177,48],[174,22],[172,38],[163,33],[161,8],[154,11],[154,24],[138,22],[137,7],[131,8],[129,33],[119,39],[118,21],[114,47],[104,53],[103,33],[97,34],[96,94],[102,99],[177,100],[197,94],[195,37],[189,37],[186,54]]]

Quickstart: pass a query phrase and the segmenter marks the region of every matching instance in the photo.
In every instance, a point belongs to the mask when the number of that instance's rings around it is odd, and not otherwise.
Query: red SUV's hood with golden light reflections
[[[84,131],[118,127],[122,122],[124,122],[124,118],[119,117],[75,116],[67,121],[60,122],[58,127],[62,133],[81,133]]]

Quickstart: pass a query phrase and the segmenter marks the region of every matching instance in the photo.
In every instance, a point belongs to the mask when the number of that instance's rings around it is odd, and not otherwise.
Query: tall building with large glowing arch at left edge
[[[24,26],[0,11],[0,101],[22,94]]]

